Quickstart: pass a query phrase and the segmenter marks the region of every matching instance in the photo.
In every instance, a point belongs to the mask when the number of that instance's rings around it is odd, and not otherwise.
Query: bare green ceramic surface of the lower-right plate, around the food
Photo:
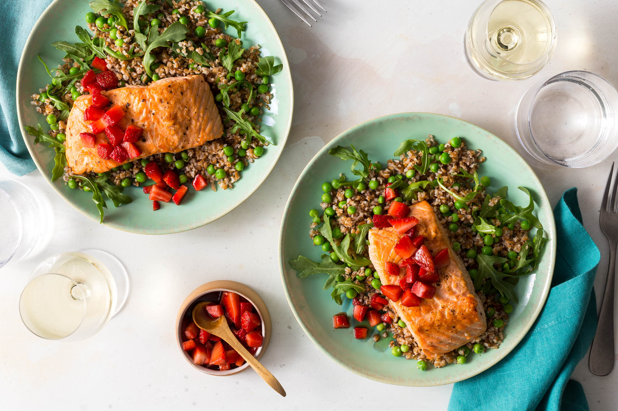
[[[298,255],[320,260],[320,247],[314,247],[308,236],[309,210],[320,208],[321,184],[331,181],[339,173],[349,178],[351,163],[332,157],[328,150],[334,146],[363,149],[371,160],[383,164],[393,158],[399,144],[408,138],[425,139],[433,134],[441,142],[454,136],[465,139],[468,147],[483,150],[487,161],[481,166],[482,175],[491,177],[491,188],[509,186],[509,199],[515,204],[527,204],[528,197],[517,186],[525,186],[536,194],[536,211],[549,242],[544,248],[538,270],[526,276],[517,285],[519,304],[510,315],[506,337],[499,349],[485,354],[470,354],[464,365],[450,364],[443,368],[421,372],[416,361],[394,357],[386,349],[387,340],[378,343],[367,338],[355,340],[352,329],[333,330],[332,315],[342,310],[352,319],[352,305],[344,296],[341,307],[332,301],[330,291],[323,291],[325,274],[299,280],[288,261]],[[376,118],[350,128],[333,139],[316,154],[298,178],[281,225],[279,257],[281,276],[287,299],[305,333],[320,347],[324,354],[348,370],[371,380],[405,386],[434,386],[465,380],[486,370],[501,360],[517,345],[530,329],[549,293],[556,255],[556,228],[551,205],[535,173],[504,141],[482,128],[459,118],[430,113],[393,114]],[[365,324],[366,326],[366,324]]]

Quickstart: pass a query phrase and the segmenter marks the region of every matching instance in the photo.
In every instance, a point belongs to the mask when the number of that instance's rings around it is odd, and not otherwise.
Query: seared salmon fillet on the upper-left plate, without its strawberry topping
[[[142,138],[135,143],[142,150],[137,158],[201,146],[223,133],[213,93],[199,75],[163,78],[148,86],[125,86],[101,94],[110,99],[111,106],[125,110],[118,124],[122,130],[127,125],[143,128]],[[82,146],[80,133],[90,132],[83,121],[89,100],[88,96],[80,96],[67,120],[67,164],[77,174],[103,173],[119,165],[111,159],[100,159],[96,148]],[[107,143],[104,133],[96,136],[96,143]]]

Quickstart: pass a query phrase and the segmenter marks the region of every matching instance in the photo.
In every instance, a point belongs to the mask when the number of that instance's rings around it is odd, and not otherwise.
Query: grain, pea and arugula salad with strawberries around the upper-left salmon
[[[187,191],[185,183],[192,183],[197,190],[205,186],[213,191],[217,186],[232,188],[244,168],[262,156],[265,147],[276,143],[263,135],[261,114],[269,109],[273,97],[269,83],[282,70],[282,65],[276,64],[273,56],[261,56],[258,44],[243,44],[240,37],[248,22],[233,20],[234,10],[208,10],[203,2],[190,0],[127,0],[122,4],[118,0],[95,0],[90,7],[93,11],[88,12],[85,20],[92,34],[77,26],[78,43],[52,43],[66,52],[63,64],[50,69],[39,57],[51,82],[32,95],[32,105],[46,116],[51,130],[44,131],[40,124],[25,129],[35,137],[35,143],[43,143],[56,152],[51,180],[62,178],[69,188],[90,191],[101,222],[106,207],[104,196],[117,207],[131,202],[131,197],[122,193],[123,188],[131,185],[143,186],[151,199],[152,191],[160,194],[156,184],[151,185],[158,181],[151,181],[151,173],[146,168],[149,164],[161,175],[171,175],[172,184],[161,185],[167,193],[170,188],[180,187],[181,193],[177,191],[173,198],[179,204]],[[237,38],[222,31],[229,27],[235,29]],[[97,105],[95,101],[95,94],[101,91],[148,86],[164,78],[196,75],[203,77],[214,96],[222,120],[220,137],[179,152],[156,152],[140,157],[141,151],[135,145],[126,146],[140,138],[140,130],[132,130],[134,138],[125,137],[118,145],[113,144],[112,136],[105,130],[109,141],[99,144],[102,134],[96,140],[95,136],[82,136],[83,147],[96,149],[101,159],[112,159],[117,167],[103,173],[79,174],[67,164],[67,118],[80,96],[89,93],[88,101],[96,106],[93,109],[102,107],[99,114],[103,115],[109,106]],[[108,104],[109,100],[103,99]],[[98,118],[98,112],[95,114]],[[86,120],[93,118],[84,115]],[[120,131],[129,134],[129,130]],[[94,130],[93,133],[96,134]],[[121,156],[115,157],[116,151]],[[157,200],[170,201],[171,194],[169,197],[164,194],[161,199],[155,197],[153,209],[160,207]]]

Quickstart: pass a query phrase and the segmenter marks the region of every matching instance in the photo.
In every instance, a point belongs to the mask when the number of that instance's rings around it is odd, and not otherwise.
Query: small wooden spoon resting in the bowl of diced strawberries
[[[216,320],[213,320],[213,317],[211,317],[210,314],[208,314],[208,311],[206,311],[206,305],[208,305],[208,302],[200,302],[200,304],[195,305],[195,308],[193,309],[193,322],[202,330],[221,337],[223,341],[230,344],[230,346],[238,352],[240,357],[243,357],[243,359],[245,359],[245,361],[253,367],[255,372],[258,373],[264,381],[266,381],[266,384],[271,386],[274,391],[279,392],[281,396],[285,397],[286,390],[284,390],[281,384],[279,384],[279,381],[274,378],[274,375],[266,370],[266,367],[261,365],[261,363],[256,360],[255,357],[253,357],[253,355],[251,355],[251,353],[242,346],[242,344],[240,344],[240,341],[236,339],[236,336],[232,334],[232,330],[230,330],[227,325],[226,317],[222,316]]]

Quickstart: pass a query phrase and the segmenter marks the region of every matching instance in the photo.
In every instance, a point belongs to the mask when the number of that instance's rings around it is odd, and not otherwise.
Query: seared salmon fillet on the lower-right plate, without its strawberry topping
[[[418,307],[405,307],[400,302],[389,302],[404,320],[418,346],[429,359],[452,351],[472,341],[487,328],[485,310],[474,291],[474,284],[464,264],[454,253],[451,241],[436,217],[431,205],[419,202],[410,207],[411,215],[419,220],[417,235],[425,237],[425,245],[432,254],[447,248],[449,265],[438,270],[439,281],[432,299],[422,299]],[[393,247],[402,238],[394,228],[372,228],[369,231],[369,257],[382,284],[398,284],[399,277],[385,275],[387,261],[401,260]]]

